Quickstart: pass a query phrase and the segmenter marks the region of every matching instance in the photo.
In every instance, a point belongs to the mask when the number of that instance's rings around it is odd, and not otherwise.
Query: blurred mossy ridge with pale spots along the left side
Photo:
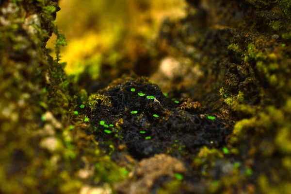
[[[126,178],[83,132],[85,115],[74,116],[88,97],[59,63],[66,41],[54,24],[57,1],[9,0],[0,8],[0,192],[79,193],[88,179]],[[55,60],[45,48],[52,33]]]

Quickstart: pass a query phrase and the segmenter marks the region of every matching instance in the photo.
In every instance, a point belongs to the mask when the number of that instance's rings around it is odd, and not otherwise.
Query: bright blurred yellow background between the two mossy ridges
[[[112,66],[123,55],[136,60],[164,18],[186,14],[184,0],[61,0],[59,6],[56,23],[68,41],[61,53],[65,71],[78,75],[87,68],[93,79],[105,54]]]

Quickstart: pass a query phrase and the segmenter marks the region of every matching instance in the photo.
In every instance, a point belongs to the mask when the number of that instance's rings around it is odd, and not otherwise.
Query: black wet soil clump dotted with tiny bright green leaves
[[[123,147],[135,159],[166,153],[191,158],[202,146],[225,144],[232,127],[192,99],[169,98],[145,77],[123,77],[89,98],[100,146]],[[126,146],[124,146],[126,145]]]

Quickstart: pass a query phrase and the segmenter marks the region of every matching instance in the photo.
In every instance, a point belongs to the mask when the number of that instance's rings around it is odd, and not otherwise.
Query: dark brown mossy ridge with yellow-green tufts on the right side
[[[217,169],[229,165],[230,158],[240,158],[240,170],[232,168],[229,174],[217,176],[210,192],[245,191],[239,188],[257,180],[261,181],[261,185],[255,185],[256,192],[267,192],[264,186],[270,192],[288,192],[291,174],[281,169],[288,169],[286,164],[290,160],[290,143],[286,139],[291,136],[290,130],[287,130],[291,125],[290,112],[286,112],[291,97],[290,1],[243,0],[229,3],[226,0],[207,0],[203,4],[207,6],[196,4],[196,18],[192,15],[189,20],[185,18],[180,23],[169,25],[174,27],[165,37],[168,44],[181,53],[182,46],[174,44],[177,40],[184,48],[194,45],[197,52],[204,54],[202,59],[194,61],[206,77],[190,93],[218,117],[237,123],[226,146],[233,156],[216,158],[213,160],[215,167],[209,167],[211,165],[207,163],[197,170],[210,179]],[[209,22],[209,26],[197,28],[197,18],[200,22],[201,19],[204,23]],[[175,30],[182,29],[183,25],[190,25],[196,30],[192,35],[196,41],[188,41],[189,38],[184,37],[187,33]],[[279,144],[279,141],[284,143]],[[249,158],[253,163],[241,157]],[[272,157],[274,159],[270,159]],[[274,171],[270,170],[270,166],[274,167]],[[206,168],[207,171],[203,171]],[[277,175],[284,183],[280,184],[273,178]]]

